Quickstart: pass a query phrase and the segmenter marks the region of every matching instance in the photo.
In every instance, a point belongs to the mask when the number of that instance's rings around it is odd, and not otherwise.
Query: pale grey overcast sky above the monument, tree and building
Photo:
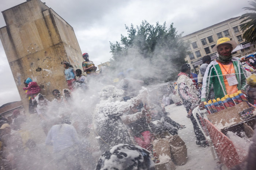
[[[26,0],[0,0],[0,10]],[[174,23],[183,35],[245,13],[247,0],[42,0],[73,28],[82,53],[87,52],[95,65],[111,58],[109,41],[120,41],[126,25],[166,21]],[[0,14],[0,27],[5,21]],[[0,41],[0,106],[20,100],[10,66]]]

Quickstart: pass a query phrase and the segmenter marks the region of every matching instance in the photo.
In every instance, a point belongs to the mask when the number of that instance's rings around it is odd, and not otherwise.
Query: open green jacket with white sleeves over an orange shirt
[[[236,71],[236,78],[238,81],[237,88],[238,90],[246,91],[248,88],[248,85],[245,80],[246,71],[242,66],[242,64],[238,61],[238,58],[232,58],[232,62],[234,65],[234,69]],[[202,102],[205,102],[208,96],[210,95],[212,84],[213,84],[215,99],[222,98],[227,94],[222,71],[221,71],[221,68],[219,67],[219,63],[216,60],[212,61],[208,65],[206,72],[204,74],[202,93],[201,93]]]

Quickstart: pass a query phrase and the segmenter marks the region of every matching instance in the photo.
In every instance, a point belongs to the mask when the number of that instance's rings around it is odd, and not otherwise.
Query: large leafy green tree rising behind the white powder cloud
[[[121,42],[110,42],[111,66],[118,71],[133,68],[136,78],[147,82],[176,80],[180,66],[185,63],[188,44],[181,39],[173,23],[139,26],[125,25],[127,36]]]

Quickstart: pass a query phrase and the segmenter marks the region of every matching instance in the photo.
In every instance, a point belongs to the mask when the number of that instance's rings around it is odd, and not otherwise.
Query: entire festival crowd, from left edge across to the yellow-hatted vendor
[[[12,122],[1,118],[1,168],[154,169],[150,159],[154,159],[153,140],[166,133],[178,135],[178,130],[186,127],[168,116],[165,106],[170,103],[183,104],[193,124],[196,145],[207,147],[208,142],[191,114],[193,109],[203,107],[208,99],[234,91],[246,94],[244,63],[252,68],[256,64],[254,58],[241,62],[233,58],[235,47],[233,40],[219,39],[213,48],[218,52],[217,60],[204,56],[199,75],[191,73],[189,64],[183,64],[177,82],[159,93],[128,76],[132,69],[118,74],[118,80],[95,83],[97,67],[87,53],[83,54],[82,63],[86,76],[70,63],[63,63],[68,88],[53,90],[52,101],[40,93],[36,82],[27,78],[23,90],[29,99],[29,112],[38,115],[46,139],[38,143],[24,135],[22,124],[26,118],[18,110],[13,112]]]

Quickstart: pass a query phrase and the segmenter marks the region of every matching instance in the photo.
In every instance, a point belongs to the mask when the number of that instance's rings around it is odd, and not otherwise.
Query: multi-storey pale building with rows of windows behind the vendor
[[[242,38],[241,21],[240,16],[231,18],[183,36],[182,39],[190,43],[188,50],[191,52],[185,60],[198,70],[198,66],[202,64],[203,56],[210,55],[212,60],[216,59],[217,55],[212,51],[212,48],[217,44],[217,40],[222,37],[229,37],[237,42],[237,48],[233,49],[233,56],[235,57],[241,57],[256,51],[250,43],[245,42]]]

